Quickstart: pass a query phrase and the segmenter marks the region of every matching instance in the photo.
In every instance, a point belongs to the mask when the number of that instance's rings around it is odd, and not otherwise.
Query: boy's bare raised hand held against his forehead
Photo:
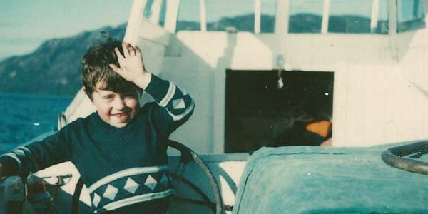
[[[137,46],[131,46],[126,42],[122,43],[123,55],[118,48],[114,49],[118,56],[119,66],[109,64],[113,71],[118,73],[127,81],[135,83],[138,87],[146,89],[151,81],[151,73],[144,68],[141,50]]]

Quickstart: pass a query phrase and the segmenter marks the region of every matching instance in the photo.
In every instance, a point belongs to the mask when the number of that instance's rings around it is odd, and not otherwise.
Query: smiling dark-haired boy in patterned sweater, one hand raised
[[[43,141],[0,157],[0,176],[26,175],[71,161],[94,213],[165,213],[173,194],[168,137],[193,113],[193,98],[144,68],[136,46],[108,41],[83,56],[83,87],[96,112]],[[138,91],[156,103],[140,108]]]

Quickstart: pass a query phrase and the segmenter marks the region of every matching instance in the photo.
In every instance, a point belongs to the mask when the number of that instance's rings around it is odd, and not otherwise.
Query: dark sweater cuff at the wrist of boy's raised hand
[[[155,99],[156,103],[159,103],[161,104],[161,106],[163,106],[163,100],[165,100],[165,98],[168,98],[168,96],[170,96],[170,93],[175,93],[175,90],[173,90],[173,88],[175,88],[173,83],[158,78],[158,76],[153,75],[152,73],[151,81],[150,83],[148,83],[148,86],[145,91]]]

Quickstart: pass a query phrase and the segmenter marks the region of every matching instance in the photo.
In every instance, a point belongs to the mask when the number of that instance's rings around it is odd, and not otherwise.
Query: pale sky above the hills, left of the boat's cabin
[[[34,51],[44,40],[128,20],[133,0],[0,0],[0,60]]]

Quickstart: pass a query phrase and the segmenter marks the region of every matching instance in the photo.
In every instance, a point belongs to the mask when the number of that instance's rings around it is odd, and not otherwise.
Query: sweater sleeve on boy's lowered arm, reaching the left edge
[[[28,175],[51,165],[70,161],[71,148],[64,127],[58,133],[0,156],[2,175]]]

